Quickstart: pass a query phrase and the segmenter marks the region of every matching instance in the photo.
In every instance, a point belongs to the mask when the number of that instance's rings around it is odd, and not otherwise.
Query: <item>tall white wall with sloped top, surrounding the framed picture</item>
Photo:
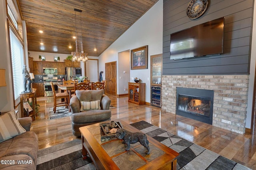
[[[99,56],[99,70],[105,70],[105,63],[108,62],[117,61],[119,65],[118,52],[148,45],[148,69],[130,70],[130,77],[138,77],[142,83],[146,83],[146,102],[150,103],[150,55],[162,53],[162,43],[163,0],[159,0]],[[130,63],[124,64],[130,65]],[[134,81],[130,80],[130,82]],[[117,82],[117,86],[118,84]]]

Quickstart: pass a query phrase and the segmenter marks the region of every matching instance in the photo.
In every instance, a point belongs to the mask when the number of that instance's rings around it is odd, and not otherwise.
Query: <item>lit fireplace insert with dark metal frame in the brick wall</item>
[[[214,91],[177,87],[176,114],[212,125]]]

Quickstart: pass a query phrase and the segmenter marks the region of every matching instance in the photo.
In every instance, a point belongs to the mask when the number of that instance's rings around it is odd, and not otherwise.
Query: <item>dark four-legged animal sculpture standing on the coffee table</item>
[[[142,133],[142,132],[129,132],[123,128],[120,128],[116,131],[116,137],[118,139],[122,139],[122,143],[126,144],[126,148],[125,150],[128,151],[130,150],[130,144],[134,144],[137,142],[140,142],[140,144],[142,144],[142,146],[145,146],[148,149],[148,152],[146,152],[146,154],[150,154],[150,148],[148,145],[148,139],[146,134]]]

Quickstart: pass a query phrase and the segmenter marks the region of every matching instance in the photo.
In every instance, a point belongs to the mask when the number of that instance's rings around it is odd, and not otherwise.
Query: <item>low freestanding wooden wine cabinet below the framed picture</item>
[[[146,83],[128,83],[128,102],[144,105],[145,87]]]

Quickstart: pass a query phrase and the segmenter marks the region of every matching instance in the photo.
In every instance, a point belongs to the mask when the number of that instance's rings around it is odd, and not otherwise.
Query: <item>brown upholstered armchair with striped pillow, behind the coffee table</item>
[[[104,89],[76,90],[76,95],[70,99],[74,136],[81,136],[80,127],[110,120],[110,102],[109,97],[104,94]]]

